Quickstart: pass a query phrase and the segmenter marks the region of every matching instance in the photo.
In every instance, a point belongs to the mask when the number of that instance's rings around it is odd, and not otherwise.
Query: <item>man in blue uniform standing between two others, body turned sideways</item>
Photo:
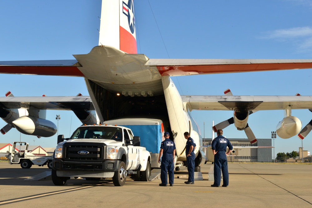
[[[194,184],[194,170],[195,170],[195,153],[196,144],[194,140],[190,137],[188,132],[184,132],[184,138],[188,141],[185,146],[186,154],[186,164],[188,166],[188,181],[185,181],[186,184]]]

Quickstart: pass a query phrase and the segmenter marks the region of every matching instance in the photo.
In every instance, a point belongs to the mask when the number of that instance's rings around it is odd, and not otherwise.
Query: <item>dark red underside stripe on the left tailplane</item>
[[[0,66],[0,73],[84,77],[76,66]]]

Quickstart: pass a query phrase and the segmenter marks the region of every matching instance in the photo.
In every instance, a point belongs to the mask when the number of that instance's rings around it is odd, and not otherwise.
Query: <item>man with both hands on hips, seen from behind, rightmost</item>
[[[223,175],[223,185],[222,187],[227,187],[229,185],[229,172],[227,170],[227,155],[233,149],[230,141],[222,136],[223,131],[219,129],[217,131],[217,137],[211,143],[212,153],[214,155],[214,167],[213,167],[213,177],[214,183],[212,187],[219,187],[221,182],[221,170]],[[229,150],[227,151],[227,147]],[[225,153],[227,151],[227,153]]]

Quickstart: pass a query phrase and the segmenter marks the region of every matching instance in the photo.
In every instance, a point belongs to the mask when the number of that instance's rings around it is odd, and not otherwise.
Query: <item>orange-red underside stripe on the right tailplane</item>
[[[231,64],[231,65],[187,65],[157,66],[162,76],[197,74],[220,74],[252,71],[272,71],[289,69],[311,69],[312,63],[271,63],[271,64]],[[186,72],[186,73],[185,73]]]

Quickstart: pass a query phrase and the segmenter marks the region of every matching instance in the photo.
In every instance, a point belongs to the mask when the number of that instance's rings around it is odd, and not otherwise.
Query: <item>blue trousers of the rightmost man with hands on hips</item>
[[[229,185],[229,172],[227,170],[227,156],[225,152],[217,152],[214,156],[213,177],[214,185],[220,186],[221,182],[221,170],[223,175],[223,185]]]

